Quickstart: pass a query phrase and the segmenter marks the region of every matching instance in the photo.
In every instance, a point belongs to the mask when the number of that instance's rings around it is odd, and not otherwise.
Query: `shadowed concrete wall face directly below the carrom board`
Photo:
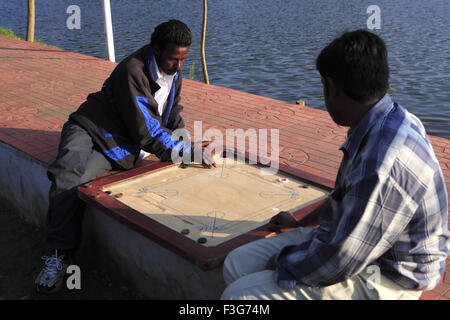
[[[125,274],[147,298],[218,299],[225,289],[222,268],[203,271],[92,206],[83,223],[82,253],[95,254],[105,268]]]

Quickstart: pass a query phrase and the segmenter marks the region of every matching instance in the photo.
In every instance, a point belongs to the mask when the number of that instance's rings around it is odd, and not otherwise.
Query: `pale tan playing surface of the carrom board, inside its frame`
[[[216,164],[212,169],[162,168],[102,191],[187,238],[204,238],[207,247],[256,229],[280,211],[296,211],[327,196],[299,179],[243,161],[218,157]]]

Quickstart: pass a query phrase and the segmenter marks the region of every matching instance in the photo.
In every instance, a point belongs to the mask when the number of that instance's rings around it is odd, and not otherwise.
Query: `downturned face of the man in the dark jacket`
[[[189,47],[178,47],[169,43],[163,50],[158,46],[154,48],[155,59],[161,71],[168,75],[173,75],[180,71],[184,60],[188,57]]]

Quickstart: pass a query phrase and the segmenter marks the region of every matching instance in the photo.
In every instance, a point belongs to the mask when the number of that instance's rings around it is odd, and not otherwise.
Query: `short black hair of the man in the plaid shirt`
[[[344,32],[319,54],[316,68],[353,100],[382,98],[389,88],[389,66],[384,41],[366,30]]]

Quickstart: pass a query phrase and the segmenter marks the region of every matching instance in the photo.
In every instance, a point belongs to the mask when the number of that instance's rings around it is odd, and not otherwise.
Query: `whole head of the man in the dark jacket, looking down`
[[[158,25],[152,33],[150,44],[161,71],[174,74],[180,71],[189,54],[192,34],[179,20],[169,20]]]

